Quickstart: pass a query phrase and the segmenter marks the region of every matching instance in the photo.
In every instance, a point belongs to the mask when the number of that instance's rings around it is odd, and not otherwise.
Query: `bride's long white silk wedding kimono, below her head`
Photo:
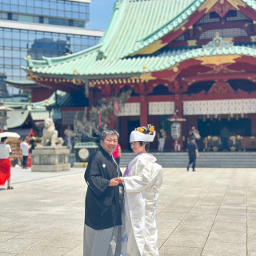
[[[123,256],[159,255],[155,210],[163,170],[156,160],[151,154],[138,154],[127,166],[122,214]]]

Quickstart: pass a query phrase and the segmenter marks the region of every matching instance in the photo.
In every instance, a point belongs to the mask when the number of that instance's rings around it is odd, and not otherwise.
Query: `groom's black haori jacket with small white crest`
[[[94,153],[86,168],[85,224],[94,230],[122,225],[119,186],[109,186],[111,178],[122,176],[113,158],[102,147]]]

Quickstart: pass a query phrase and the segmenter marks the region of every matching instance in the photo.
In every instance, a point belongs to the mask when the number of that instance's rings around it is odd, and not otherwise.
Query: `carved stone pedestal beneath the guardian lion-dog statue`
[[[32,151],[31,171],[70,170],[68,154],[70,154],[70,150],[66,146],[37,146]]]

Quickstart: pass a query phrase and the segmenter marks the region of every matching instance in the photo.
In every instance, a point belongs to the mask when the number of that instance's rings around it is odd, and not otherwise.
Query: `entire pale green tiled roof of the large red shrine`
[[[243,54],[255,56],[256,50],[246,46],[218,46],[216,49],[166,50],[163,54],[130,57],[134,52],[157,42],[182,23],[202,4],[210,0],[118,0],[114,4],[110,24],[98,46],[76,54],[43,61],[28,60],[28,70],[49,77],[99,78],[129,77],[131,74],[172,69],[190,58]],[[242,1],[242,0],[241,0]],[[256,1],[243,0],[256,10]],[[145,69],[146,66],[146,69]]]

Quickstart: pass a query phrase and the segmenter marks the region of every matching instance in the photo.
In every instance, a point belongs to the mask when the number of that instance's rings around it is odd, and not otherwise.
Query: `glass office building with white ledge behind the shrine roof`
[[[86,30],[89,20],[90,0],[0,0],[0,79],[26,80],[20,67],[29,55],[57,57],[96,45],[103,31]]]

